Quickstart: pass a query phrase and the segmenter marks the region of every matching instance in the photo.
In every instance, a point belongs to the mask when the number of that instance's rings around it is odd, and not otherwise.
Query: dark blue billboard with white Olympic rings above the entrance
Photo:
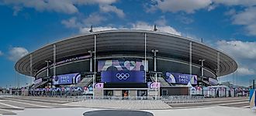
[[[102,71],[102,82],[113,83],[144,83],[144,71],[122,70],[122,71]]]

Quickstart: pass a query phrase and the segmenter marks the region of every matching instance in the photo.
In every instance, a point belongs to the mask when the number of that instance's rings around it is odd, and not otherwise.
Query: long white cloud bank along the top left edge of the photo
[[[31,8],[38,12],[48,11],[74,14],[78,12],[77,5],[99,4],[107,6],[110,12],[116,12],[119,16],[123,16],[122,10],[116,9],[115,6],[111,5],[114,2],[117,2],[117,0],[2,0],[0,5],[12,6],[14,10],[13,15],[17,15],[22,8]]]

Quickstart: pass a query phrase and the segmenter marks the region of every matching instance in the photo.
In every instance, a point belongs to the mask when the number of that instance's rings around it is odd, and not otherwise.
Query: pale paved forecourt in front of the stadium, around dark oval
[[[196,112],[208,111],[217,115],[233,114],[233,116],[251,113],[247,97],[210,98],[199,103],[165,104],[162,101],[109,101],[60,98],[60,97],[0,97],[0,115],[81,115],[85,111],[99,111],[104,109],[125,109],[149,111],[154,115],[166,115],[169,113],[183,113],[187,115],[198,114]],[[147,109],[147,110],[146,110]],[[161,110],[159,110],[161,109]],[[165,109],[165,110],[163,110]],[[183,110],[185,110],[183,112]],[[216,112],[214,112],[214,110]],[[69,113],[70,111],[71,113]],[[195,111],[195,112],[193,112]],[[221,112],[223,111],[223,112]],[[41,113],[40,113],[41,112]],[[55,113],[61,114],[55,114]],[[74,113],[74,114],[73,114]],[[202,114],[202,113],[200,113]],[[212,114],[209,114],[212,115]],[[239,115],[239,116],[240,116]]]

